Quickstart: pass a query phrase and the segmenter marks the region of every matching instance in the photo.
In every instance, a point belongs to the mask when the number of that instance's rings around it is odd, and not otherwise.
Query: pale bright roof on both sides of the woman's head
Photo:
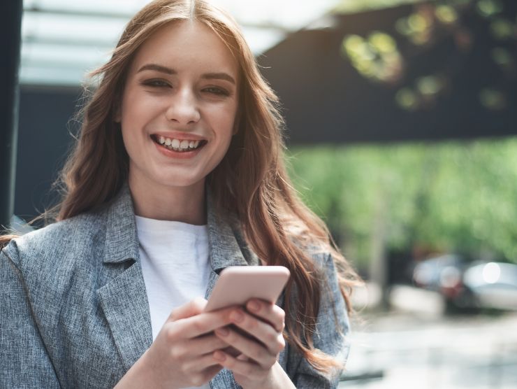
[[[148,0],[24,0],[20,81],[80,85],[103,64],[124,25]],[[342,0],[212,0],[241,24],[258,55]]]

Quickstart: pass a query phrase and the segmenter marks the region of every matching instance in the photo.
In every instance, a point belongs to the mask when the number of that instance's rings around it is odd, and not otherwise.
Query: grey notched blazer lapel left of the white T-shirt
[[[97,295],[127,370],[152,344],[149,303],[127,185],[108,208],[104,253],[106,282],[97,290]]]

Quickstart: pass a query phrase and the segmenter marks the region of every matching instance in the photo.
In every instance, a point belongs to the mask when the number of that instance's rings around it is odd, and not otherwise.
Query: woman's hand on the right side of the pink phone
[[[230,326],[215,330],[215,334],[235,348],[234,357],[224,351],[213,356],[219,365],[233,372],[242,388],[294,388],[289,376],[278,364],[278,355],[284,349],[285,313],[282,308],[259,299],[251,299],[246,310],[235,308],[230,314],[233,325],[252,337]]]

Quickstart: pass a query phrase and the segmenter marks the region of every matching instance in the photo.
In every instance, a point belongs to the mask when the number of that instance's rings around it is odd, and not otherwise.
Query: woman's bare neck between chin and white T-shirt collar
[[[138,216],[192,225],[206,224],[204,180],[188,187],[162,185],[161,188],[153,188],[142,181],[131,180],[130,176],[129,189]]]

